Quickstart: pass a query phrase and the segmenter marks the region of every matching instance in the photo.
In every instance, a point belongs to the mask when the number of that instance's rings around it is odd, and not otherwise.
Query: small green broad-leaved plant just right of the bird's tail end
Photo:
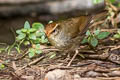
[[[96,47],[98,45],[98,40],[102,40],[108,37],[109,32],[101,32],[99,29],[95,30],[91,33],[89,30],[86,32],[86,36],[82,40],[82,44],[88,43],[92,47]]]

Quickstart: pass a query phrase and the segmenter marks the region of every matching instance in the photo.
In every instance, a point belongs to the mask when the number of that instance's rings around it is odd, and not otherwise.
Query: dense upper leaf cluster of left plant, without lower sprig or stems
[[[33,23],[30,28],[29,22],[26,21],[24,28],[17,30],[16,33],[18,34],[16,37],[17,42],[23,43],[24,45],[48,42],[45,37],[44,26],[41,23]]]

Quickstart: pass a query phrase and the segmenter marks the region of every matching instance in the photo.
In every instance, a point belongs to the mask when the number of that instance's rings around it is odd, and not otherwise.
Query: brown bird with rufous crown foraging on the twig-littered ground
[[[90,26],[93,16],[80,16],[46,25],[45,33],[56,48],[73,50],[78,47],[83,33]]]

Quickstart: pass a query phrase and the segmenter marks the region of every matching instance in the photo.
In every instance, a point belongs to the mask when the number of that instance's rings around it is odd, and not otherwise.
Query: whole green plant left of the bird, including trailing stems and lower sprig
[[[13,45],[9,46],[8,52],[15,47],[20,53],[21,44],[25,46],[31,46],[28,49],[29,57],[31,58],[35,54],[42,53],[40,50],[40,44],[48,43],[48,39],[44,33],[44,26],[41,23],[33,23],[31,27],[29,22],[26,21],[24,28],[17,30],[16,33],[18,34],[16,41]],[[34,48],[33,45],[35,46]]]

